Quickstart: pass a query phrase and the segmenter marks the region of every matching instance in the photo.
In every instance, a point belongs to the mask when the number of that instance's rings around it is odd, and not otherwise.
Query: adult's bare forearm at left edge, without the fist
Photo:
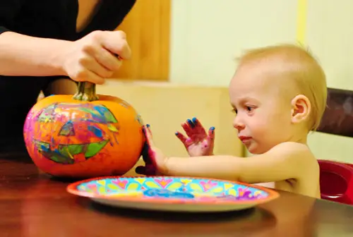
[[[0,35],[0,75],[66,75],[61,52],[71,43],[4,32]]]

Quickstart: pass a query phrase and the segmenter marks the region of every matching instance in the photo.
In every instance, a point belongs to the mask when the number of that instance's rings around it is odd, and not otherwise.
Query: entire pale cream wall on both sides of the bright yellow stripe
[[[321,61],[329,87],[353,90],[352,9],[351,0],[172,0],[170,80],[227,87],[242,50],[301,39]],[[352,144],[309,135],[320,159],[351,162]]]

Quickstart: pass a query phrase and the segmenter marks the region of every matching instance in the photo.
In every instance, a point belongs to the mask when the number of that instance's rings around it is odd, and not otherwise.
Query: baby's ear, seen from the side
[[[297,95],[292,99],[292,123],[301,123],[309,119],[311,103],[305,95]]]

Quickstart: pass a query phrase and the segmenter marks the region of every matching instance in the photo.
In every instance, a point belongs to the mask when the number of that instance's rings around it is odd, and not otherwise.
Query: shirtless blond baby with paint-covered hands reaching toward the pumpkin
[[[214,155],[215,128],[206,133],[193,118],[182,124],[189,138],[176,133],[189,158],[164,156],[145,126],[148,156],[136,172],[274,182],[276,189],[320,198],[319,166],[306,139],[321,121],[326,97],[325,73],[308,51],[287,44],[248,51],[229,84],[229,98],[238,137],[255,155]]]

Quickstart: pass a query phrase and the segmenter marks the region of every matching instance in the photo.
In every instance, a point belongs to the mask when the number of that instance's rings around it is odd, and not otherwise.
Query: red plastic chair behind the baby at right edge
[[[321,198],[353,205],[353,164],[319,159]]]

